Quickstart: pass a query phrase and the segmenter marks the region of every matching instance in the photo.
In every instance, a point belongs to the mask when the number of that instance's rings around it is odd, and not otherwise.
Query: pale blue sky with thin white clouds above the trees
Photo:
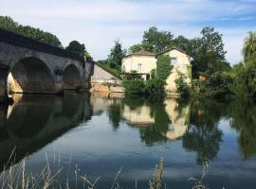
[[[256,31],[256,0],[0,0],[0,15],[55,34],[66,46],[84,43],[94,60],[105,60],[118,40],[140,43],[150,26],[175,36],[200,36],[204,26],[223,34],[227,60],[242,60],[248,31]]]

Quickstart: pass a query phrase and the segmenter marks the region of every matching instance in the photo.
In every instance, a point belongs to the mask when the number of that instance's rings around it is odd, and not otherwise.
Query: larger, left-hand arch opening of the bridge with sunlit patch
[[[27,57],[10,68],[8,88],[9,93],[54,93],[54,79],[45,61]]]

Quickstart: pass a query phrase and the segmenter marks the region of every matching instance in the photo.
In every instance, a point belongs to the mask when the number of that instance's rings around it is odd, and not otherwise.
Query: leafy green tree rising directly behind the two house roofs
[[[169,31],[159,31],[152,26],[144,32],[142,43],[149,43],[153,46],[155,53],[160,53],[173,44],[174,35]]]

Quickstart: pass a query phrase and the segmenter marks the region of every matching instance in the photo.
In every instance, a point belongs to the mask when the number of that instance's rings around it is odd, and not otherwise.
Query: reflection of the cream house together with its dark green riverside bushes
[[[159,102],[125,97],[122,117],[130,126],[139,129],[141,141],[152,146],[177,140],[185,134],[190,120],[190,102],[178,102],[176,99]]]

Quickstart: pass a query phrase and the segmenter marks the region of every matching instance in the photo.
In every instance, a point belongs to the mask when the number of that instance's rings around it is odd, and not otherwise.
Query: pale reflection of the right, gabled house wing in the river
[[[172,120],[166,137],[169,140],[176,140],[182,137],[188,129],[188,120],[190,116],[190,106],[182,107],[175,99],[167,99],[165,101],[165,110]]]

